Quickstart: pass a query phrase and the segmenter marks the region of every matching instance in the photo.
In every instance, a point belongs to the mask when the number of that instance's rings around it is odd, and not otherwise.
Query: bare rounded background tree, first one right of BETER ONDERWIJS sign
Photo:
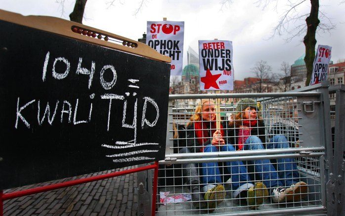
[[[272,75],[270,72],[272,71],[272,67],[267,64],[266,61],[259,61],[255,64],[255,67],[252,68],[255,77],[259,79],[258,83],[256,84],[256,91],[263,92],[264,83],[270,82]]]

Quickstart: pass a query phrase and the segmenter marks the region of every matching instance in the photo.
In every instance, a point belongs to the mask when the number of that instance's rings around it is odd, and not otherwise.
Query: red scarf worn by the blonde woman
[[[203,146],[201,149],[201,152],[204,152],[204,143],[212,139],[213,134],[216,132],[216,121],[211,122],[211,135],[209,134],[209,129],[207,126],[210,125],[210,122],[194,122],[194,130],[196,137],[198,139],[199,145]],[[220,124],[220,134],[222,137],[224,137],[224,131],[223,131],[223,126]],[[211,140],[212,143],[212,140]]]

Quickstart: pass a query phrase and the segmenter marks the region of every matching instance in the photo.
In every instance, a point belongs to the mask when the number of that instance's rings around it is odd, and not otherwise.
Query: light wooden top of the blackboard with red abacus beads
[[[131,54],[147,57],[147,58],[158,60],[158,61],[163,61],[167,63],[171,62],[170,57],[161,55],[155,49],[151,48],[150,46],[144,43],[133,41],[131,39],[128,39],[119,35],[115,35],[110,32],[105,32],[96,28],[92,28],[80,23],[64,20],[61,18],[50,17],[50,16],[33,16],[33,15],[23,16],[19,13],[13,13],[13,12],[0,9],[0,20],[43,30],[50,33],[55,33],[58,35],[69,37],[69,38],[85,41],[88,43],[98,44],[104,47],[128,52]],[[101,35],[107,36],[108,38],[112,40],[116,40],[117,43],[119,44],[105,41],[103,39],[100,40],[98,38],[92,38],[87,35],[75,33],[72,31],[74,27],[78,29],[85,29],[91,32],[95,32],[97,34],[100,33]],[[123,42],[134,43],[136,46],[130,47],[127,45],[123,45],[121,44]]]

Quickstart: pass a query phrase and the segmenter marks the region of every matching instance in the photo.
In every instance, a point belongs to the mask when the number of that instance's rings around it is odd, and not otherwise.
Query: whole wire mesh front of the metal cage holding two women
[[[170,103],[157,215],[323,210],[324,146],[308,140],[321,126],[303,128],[320,121],[319,93],[207,96]]]

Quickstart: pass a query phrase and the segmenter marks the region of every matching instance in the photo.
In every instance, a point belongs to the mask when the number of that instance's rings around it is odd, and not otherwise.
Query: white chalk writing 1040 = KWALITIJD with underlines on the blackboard
[[[42,82],[46,82],[47,76],[50,76],[56,80],[63,80],[67,78],[68,76],[72,76],[71,74],[71,63],[70,61],[63,57],[59,56],[53,59],[50,59],[51,52],[47,51],[45,54],[44,62],[43,62],[43,71],[42,71]],[[49,64],[50,62],[50,64]],[[52,63],[51,63],[52,62]],[[100,85],[105,90],[112,89],[116,85],[117,81],[117,72],[113,65],[107,64],[102,66],[101,70],[99,72],[96,71],[96,62],[91,61],[90,68],[84,68],[82,67],[83,58],[79,57],[77,70],[75,72],[76,75],[88,75],[88,84],[87,88],[90,89],[92,86],[92,81],[95,75],[99,76]],[[60,67],[57,67],[56,65],[60,64]],[[50,68],[49,68],[49,65]],[[63,67],[61,67],[63,65]],[[112,75],[112,79],[107,81],[104,79],[104,74],[110,73]],[[137,142],[137,125],[139,125],[139,130],[143,130],[144,127],[154,127],[157,124],[157,121],[159,119],[159,107],[158,104],[155,102],[155,100],[151,97],[144,96],[141,99],[143,100],[142,104],[142,110],[138,111],[138,98],[137,98],[137,90],[140,89],[140,80],[139,79],[128,79],[128,87],[129,89],[132,89],[132,92],[125,92],[124,95],[114,94],[114,93],[104,93],[100,95],[95,95],[95,93],[90,94],[90,99],[93,99],[95,97],[99,97],[100,99],[109,100],[109,106],[108,106],[108,113],[107,113],[107,126],[106,129],[109,131],[111,127],[110,120],[111,118],[111,111],[112,111],[112,103],[113,100],[120,100],[123,101],[123,115],[122,115],[122,128],[132,129],[132,139],[130,140],[117,140],[113,143],[100,143],[102,147],[109,148],[109,149],[127,149],[127,148],[133,148],[138,146],[158,146],[159,143],[155,142]],[[132,114],[128,114],[128,106],[129,101],[128,98],[131,97],[134,99],[134,103],[131,104],[133,106],[131,110],[133,110]],[[30,129],[31,125],[34,124],[34,122],[29,122],[25,116],[24,116],[24,109],[27,109],[28,106],[34,105],[34,107],[37,107],[37,121],[38,126],[43,126],[44,122],[47,122],[50,126],[53,125],[56,122],[64,123],[67,122],[69,124],[78,125],[78,124],[87,124],[91,122],[92,117],[92,102],[90,102],[89,110],[88,110],[88,117],[84,117],[84,119],[81,119],[78,117],[78,105],[79,105],[80,98],[76,98],[75,103],[72,103],[68,100],[56,100],[54,102],[49,103],[42,103],[40,99],[33,99],[29,102],[27,101],[21,101],[20,97],[17,97],[17,110],[16,110],[16,121],[15,121],[15,129],[18,129],[19,122],[23,122],[24,125]],[[146,111],[148,109],[148,106],[153,107],[156,112],[156,116],[154,120],[150,121],[146,119]],[[139,118],[139,121],[141,120],[141,124],[137,124],[138,120],[138,113],[141,113],[141,118]],[[60,115],[60,116],[59,116]],[[150,113],[152,116],[152,113]],[[73,116],[73,118],[72,118]],[[59,118],[60,117],[60,118]],[[59,119],[59,120],[55,120]],[[116,118],[121,119],[121,118]],[[54,121],[55,120],[55,121]],[[130,120],[130,124],[128,124]],[[141,126],[141,127],[140,127]],[[106,155],[107,158],[113,158],[114,162],[130,162],[130,161],[141,161],[141,160],[153,160],[154,158],[140,156],[140,154],[143,153],[151,153],[151,152],[158,152],[159,150],[152,150],[152,149],[140,149],[136,151],[130,151],[125,153],[118,153],[118,154],[111,154]],[[126,158],[120,158],[119,157],[126,157]],[[115,158],[115,159],[114,159]]]

